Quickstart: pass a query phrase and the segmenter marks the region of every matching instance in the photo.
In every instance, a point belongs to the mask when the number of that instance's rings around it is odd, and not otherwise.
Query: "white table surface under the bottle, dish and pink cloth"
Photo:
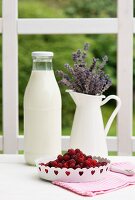
[[[110,157],[111,161],[132,161],[135,157]],[[23,155],[0,155],[0,200],[132,200],[135,186],[108,194],[82,197],[38,178],[36,167],[25,164]]]

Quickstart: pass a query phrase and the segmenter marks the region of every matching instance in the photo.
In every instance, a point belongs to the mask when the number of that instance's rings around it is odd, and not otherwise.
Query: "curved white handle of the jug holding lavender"
[[[116,106],[116,108],[114,109],[113,113],[111,114],[111,116],[110,116],[110,118],[109,118],[109,120],[108,120],[108,122],[107,122],[107,124],[106,124],[106,127],[105,127],[105,135],[108,134],[108,131],[109,131],[109,129],[110,129],[110,126],[111,126],[111,124],[112,124],[112,122],[113,122],[115,116],[117,115],[117,113],[118,113],[118,111],[119,111],[119,109],[120,109],[120,107],[121,107],[121,100],[120,100],[120,98],[119,98],[118,96],[116,96],[116,95],[110,95],[110,96],[106,97],[106,98],[101,102],[101,106],[103,106],[104,104],[106,104],[106,103],[107,103],[109,100],[111,100],[111,99],[114,99],[114,100],[117,101],[117,106]]]

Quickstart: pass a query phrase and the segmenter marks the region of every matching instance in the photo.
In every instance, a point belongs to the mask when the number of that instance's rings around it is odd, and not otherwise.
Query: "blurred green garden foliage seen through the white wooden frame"
[[[19,18],[100,18],[117,17],[116,0],[18,0]],[[57,27],[59,28],[59,27]],[[108,55],[105,67],[112,79],[112,86],[105,95],[116,94],[117,85],[117,35],[19,35],[19,132],[23,134],[23,96],[32,70],[32,51],[53,51],[54,71],[64,69],[65,63],[72,65],[72,52],[90,43],[90,62],[92,57],[102,58]],[[135,40],[134,40],[135,41]],[[0,48],[2,38],[0,37]],[[0,54],[0,113],[2,113],[2,55]],[[135,54],[134,54],[135,62]],[[12,66],[11,66],[12,67]],[[135,75],[135,71],[134,71]],[[58,80],[58,77],[57,77]],[[135,76],[134,76],[135,80]],[[128,81],[128,80],[127,80]],[[125,82],[126,84],[126,82]],[[134,81],[135,84],[135,81]],[[124,86],[123,86],[124,87]],[[69,135],[75,111],[75,105],[65,88],[60,86],[63,98],[63,135]],[[115,102],[111,101],[102,108],[104,123],[107,122]],[[135,130],[135,114],[134,114]],[[0,115],[0,132],[2,134],[2,114]],[[116,135],[116,119],[109,135]]]

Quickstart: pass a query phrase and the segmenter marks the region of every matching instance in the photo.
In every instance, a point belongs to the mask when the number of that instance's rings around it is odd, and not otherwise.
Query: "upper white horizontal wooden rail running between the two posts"
[[[18,19],[19,34],[117,33],[116,18]]]

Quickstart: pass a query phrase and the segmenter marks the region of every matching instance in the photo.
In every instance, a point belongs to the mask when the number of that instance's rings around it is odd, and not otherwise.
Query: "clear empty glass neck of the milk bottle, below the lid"
[[[33,58],[33,70],[53,70],[52,58]]]

